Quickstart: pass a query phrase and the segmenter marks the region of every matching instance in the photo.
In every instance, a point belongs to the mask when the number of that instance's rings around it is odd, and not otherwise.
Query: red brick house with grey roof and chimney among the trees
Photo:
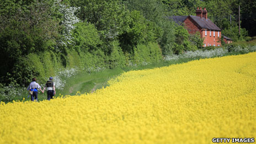
[[[221,29],[207,19],[207,10],[198,8],[195,10],[196,16],[174,16],[174,22],[183,24],[189,34],[199,31],[201,38],[204,39],[204,46],[221,46]]]

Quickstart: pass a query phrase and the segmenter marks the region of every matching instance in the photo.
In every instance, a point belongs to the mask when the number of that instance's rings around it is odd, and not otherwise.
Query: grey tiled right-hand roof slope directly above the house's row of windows
[[[189,17],[193,19],[201,28],[206,28],[209,30],[221,30],[217,25],[212,23],[210,19],[196,17],[194,15],[189,15]]]

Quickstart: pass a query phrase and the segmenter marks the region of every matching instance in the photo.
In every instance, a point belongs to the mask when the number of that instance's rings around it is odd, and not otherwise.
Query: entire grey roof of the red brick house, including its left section
[[[195,23],[197,23],[201,28],[209,29],[209,30],[219,30],[221,31],[220,28],[218,28],[217,25],[211,22],[210,19],[205,19],[205,18],[200,18],[194,15],[189,15],[189,16],[173,16],[169,17],[170,19],[173,19],[175,23],[180,24],[185,21],[186,18],[190,17],[191,19],[194,20]]]

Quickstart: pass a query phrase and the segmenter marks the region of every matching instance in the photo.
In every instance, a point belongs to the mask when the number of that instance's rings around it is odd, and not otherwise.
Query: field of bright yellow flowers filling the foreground
[[[256,136],[256,52],[130,71],[95,93],[0,104],[0,143],[211,143]]]

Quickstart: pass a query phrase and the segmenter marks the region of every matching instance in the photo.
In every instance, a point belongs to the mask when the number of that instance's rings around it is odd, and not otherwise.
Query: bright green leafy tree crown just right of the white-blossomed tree
[[[102,39],[111,41],[122,33],[127,26],[125,23],[126,10],[119,1],[71,1],[78,10],[78,18],[92,23],[100,32]]]

